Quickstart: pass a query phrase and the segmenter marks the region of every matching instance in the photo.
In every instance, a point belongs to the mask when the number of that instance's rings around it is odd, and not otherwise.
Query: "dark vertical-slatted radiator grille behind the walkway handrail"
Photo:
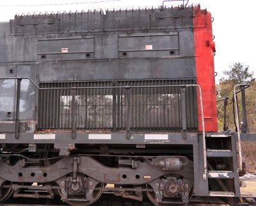
[[[179,129],[182,127],[180,88],[143,88],[178,84],[195,84],[195,81],[40,83],[40,88],[65,89],[40,90],[38,129],[72,127],[71,88],[76,91],[73,96],[76,128],[123,129],[127,127],[127,109],[130,108],[131,128]],[[140,87],[130,88],[127,94],[127,88],[113,88],[115,86]],[[127,97],[130,100],[130,107],[127,107]],[[186,88],[186,114],[187,127],[197,128],[196,91],[192,87]]]

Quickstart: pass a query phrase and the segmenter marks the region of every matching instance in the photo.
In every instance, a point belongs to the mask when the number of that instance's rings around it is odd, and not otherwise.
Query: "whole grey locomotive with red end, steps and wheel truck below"
[[[15,15],[0,30],[0,202],[236,205],[241,137],[218,133],[207,10]]]

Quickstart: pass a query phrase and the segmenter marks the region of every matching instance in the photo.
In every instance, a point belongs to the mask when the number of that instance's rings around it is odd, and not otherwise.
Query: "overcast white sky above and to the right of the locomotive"
[[[98,1],[98,3],[96,3]],[[100,2],[107,1],[107,2]],[[94,2],[94,3],[90,3]],[[92,9],[106,8],[145,8],[161,5],[163,0],[22,0],[22,1],[0,1],[0,22],[13,19],[16,13],[39,13],[39,12],[72,12]],[[186,2],[186,1],[185,1]],[[39,4],[65,4],[84,3],[68,5],[48,6],[24,6]],[[166,5],[177,5],[182,1],[166,3]],[[256,1],[238,0],[189,0],[189,5],[200,3],[201,8],[207,8],[214,17],[213,35],[216,36],[216,56],[214,57],[215,70],[218,72],[216,80],[223,76],[223,70],[236,62],[249,65],[250,70],[256,73],[256,43],[255,43],[255,5]],[[17,6],[3,6],[3,5]],[[23,6],[21,6],[21,4]],[[256,75],[255,75],[256,76]]]

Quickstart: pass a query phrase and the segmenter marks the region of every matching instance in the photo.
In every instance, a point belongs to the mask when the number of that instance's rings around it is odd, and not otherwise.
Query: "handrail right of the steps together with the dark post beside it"
[[[239,91],[236,91],[237,86],[240,87]],[[238,141],[238,156],[239,156],[239,164],[238,170],[243,170],[243,162],[242,162],[242,149],[241,149],[241,134],[240,134],[240,127],[239,127],[239,116],[238,116],[238,108],[237,108],[237,93],[241,92],[242,97],[242,104],[243,104],[243,122],[246,125],[246,108],[245,108],[245,93],[244,90],[251,86],[250,84],[236,84],[234,86],[234,102],[235,102],[235,116],[236,116],[236,127],[237,127],[237,141]]]

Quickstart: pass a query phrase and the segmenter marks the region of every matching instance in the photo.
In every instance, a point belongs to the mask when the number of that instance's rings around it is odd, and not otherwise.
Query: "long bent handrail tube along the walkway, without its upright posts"
[[[199,91],[200,97],[200,110],[202,115],[202,134],[203,134],[203,147],[204,147],[204,175],[203,178],[206,180],[207,174],[207,159],[206,159],[206,143],[205,143],[205,123],[204,123],[204,108],[202,99],[202,90],[198,84],[179,84],[179,85],[152,85],[152,86],[96,86],[96,87],[61,87],[61,88],[40,88],[32,79],[29,77],[0,77],[0,79],[28,79],[38,90],[63,90],[63,89],[100,89],[100,88],[161,88],[161,87],[196,87]]]

